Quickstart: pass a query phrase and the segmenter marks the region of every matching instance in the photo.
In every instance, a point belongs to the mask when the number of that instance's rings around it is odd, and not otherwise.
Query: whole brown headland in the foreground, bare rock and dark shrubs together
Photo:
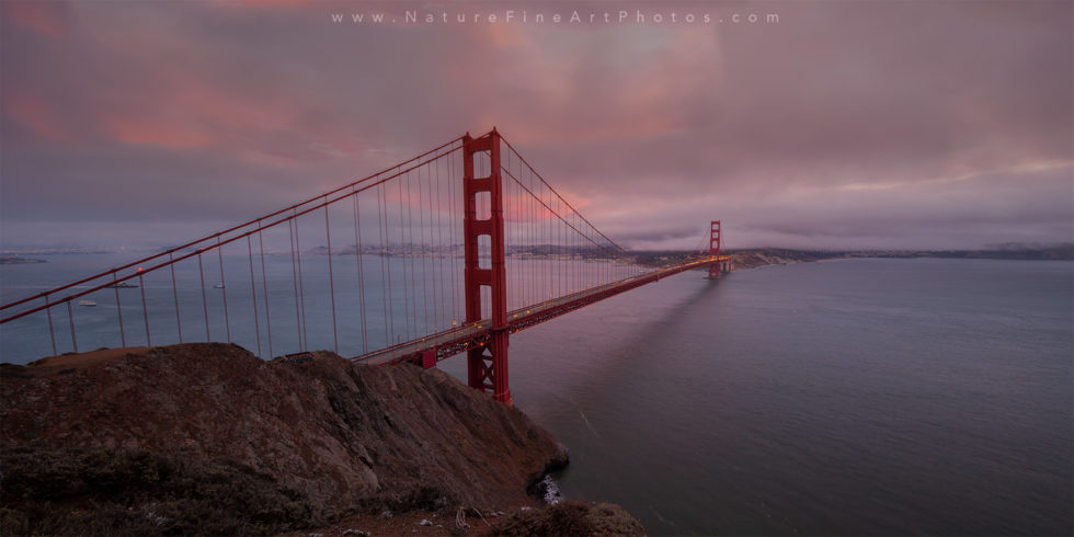
[[[215,343],[98,351],[2,364],[0,380],[5,535],[265,533],[355,510],[505,510],[530,504],[527,485],[567,462],[521,411],[443,372],[324,352],[266,363]]]

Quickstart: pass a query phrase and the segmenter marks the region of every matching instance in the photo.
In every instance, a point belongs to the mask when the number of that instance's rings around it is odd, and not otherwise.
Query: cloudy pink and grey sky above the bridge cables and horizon
[[[711,219],[730,248],[1074,240],[1069,1],[0,0],[0,18],[3,248],[174,244],[493,126],[628,248],[695,247]]]

